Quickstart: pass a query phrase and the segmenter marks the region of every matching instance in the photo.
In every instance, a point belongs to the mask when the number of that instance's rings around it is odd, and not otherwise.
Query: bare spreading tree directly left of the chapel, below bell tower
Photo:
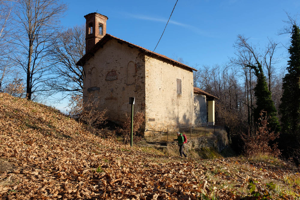
[[[50,52],[51,71],[55,79],[48,81],[52,93],[82,95],[83,68],[76,62],[85,54],[85,25],[74,26],[56,38]]]

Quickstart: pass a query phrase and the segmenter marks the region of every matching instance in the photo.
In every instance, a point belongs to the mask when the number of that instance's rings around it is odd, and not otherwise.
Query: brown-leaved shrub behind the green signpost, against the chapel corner
[[[133,134],[134,134],[134,141],[138,141],[141,138],[137,135],[140,127],[145,122],[145,113],[143,112],[136,112],[133,116]],[[126,121],[123,122],[122,128],[119,128],[117,130],[119,133],[121,133],[124,136],[124,143],[127,144],[128,138],[131,133],[131,117],[126,114]]]

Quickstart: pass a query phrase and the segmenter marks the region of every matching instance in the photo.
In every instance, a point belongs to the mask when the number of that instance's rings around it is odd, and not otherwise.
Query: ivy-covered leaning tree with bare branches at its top
[[[254,70],[257,77],[256,86],[254,88],[254,96],[256,97],[256,108],[253,111],[254,122],[258,123],[261,111],[265,111],[268,119],[268,127],[271,131],[278,133],[280,125],[277,118],[277,109],[271,99],[271,92],[268,89],[266,77],[262,71],[262,65],[257,62],[257,66],[249,65]]]

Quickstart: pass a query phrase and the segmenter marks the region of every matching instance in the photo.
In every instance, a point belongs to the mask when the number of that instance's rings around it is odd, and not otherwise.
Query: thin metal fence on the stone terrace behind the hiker
[[[173,142],[177,139],[177,131],[185,134],[188,139],[214,134],[216,131],[224,130],[225,123],[215,122],[214,124],[178,124],[167,126],[167,142]]]

